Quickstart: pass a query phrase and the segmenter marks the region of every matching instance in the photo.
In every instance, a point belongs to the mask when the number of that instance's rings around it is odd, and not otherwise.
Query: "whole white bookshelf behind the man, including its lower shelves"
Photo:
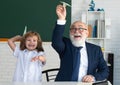
[[[105,47],[105,42],[108,39],[106,37],[105,11],[86,11],[83,14],[84,16],[81,15],[81,19],[87,23],[89,30],[87,41],[101,46],[105,60],[107,61],[107,54],[110,51],[107,51]]]

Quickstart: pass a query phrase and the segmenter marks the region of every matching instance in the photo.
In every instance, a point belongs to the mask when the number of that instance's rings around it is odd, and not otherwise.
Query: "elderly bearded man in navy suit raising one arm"
[[[70,26],[70,39],[63,37],[66,24],[66,7],[56,7],[58,20],[52,35],[52,47],[60,58],[56,81],[94,82],[105,80],[109,70],[101,47],[86,42],[88,27],[81,21]]]

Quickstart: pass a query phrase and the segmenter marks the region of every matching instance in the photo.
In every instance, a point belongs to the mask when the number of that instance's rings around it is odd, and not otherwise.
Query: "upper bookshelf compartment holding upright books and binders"
[[[88,11],[87,24],[90,32],[90,38],[105,38],[105,12]]]

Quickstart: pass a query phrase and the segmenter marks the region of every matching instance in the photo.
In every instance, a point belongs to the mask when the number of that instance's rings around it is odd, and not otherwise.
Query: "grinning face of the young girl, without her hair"
[[[35,50],[38,44],[38,37],[37,36],[32,36],[32,37],[27,37],[25,41],[26,48],[28,50]]]

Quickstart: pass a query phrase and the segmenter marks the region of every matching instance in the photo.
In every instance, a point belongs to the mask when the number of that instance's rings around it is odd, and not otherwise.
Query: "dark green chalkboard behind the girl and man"
[[[71,4],[71,0],[62,1]],[[58,4],[60,0],[0,0],[0,38],[22,35],[27,26],[27,31],[37,31],[43,41],[51,41]],[[66,28],[70,23],[71,8],[67,7]]]

